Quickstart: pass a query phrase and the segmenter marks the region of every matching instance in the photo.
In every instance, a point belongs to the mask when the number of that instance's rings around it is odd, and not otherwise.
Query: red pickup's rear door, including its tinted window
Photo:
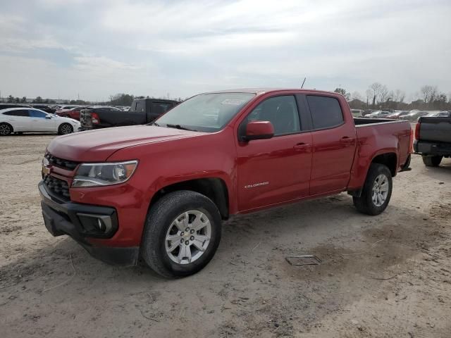
[[[314,94],[305,99],[313,125],[310,194],[345,189],[357,143],[354,122],[336,97]]]

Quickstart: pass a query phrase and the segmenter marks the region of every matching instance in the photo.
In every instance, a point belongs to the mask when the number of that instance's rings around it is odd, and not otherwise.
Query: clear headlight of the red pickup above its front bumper
[[[119,184],[135,173],[138,161],[111,163],[83,163],[78,167],[72,187],[98,187]]]

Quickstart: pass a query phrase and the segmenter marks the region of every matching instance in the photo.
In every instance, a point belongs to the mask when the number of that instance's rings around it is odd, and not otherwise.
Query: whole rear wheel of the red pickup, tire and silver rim
[[[362,194],[353,197],[354,206],[361,213],[378,215],[388,206],[392,196],[393,181],[390,169],[386,165],[371,163]]]

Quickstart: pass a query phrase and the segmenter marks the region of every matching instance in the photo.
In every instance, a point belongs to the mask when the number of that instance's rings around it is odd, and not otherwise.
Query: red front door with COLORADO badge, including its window
[[[270,121],[271,139],[238,142],[238,208],[247,211],[309,195],[311,133],[302,132],[295,96],[264,100],[240,124]]]

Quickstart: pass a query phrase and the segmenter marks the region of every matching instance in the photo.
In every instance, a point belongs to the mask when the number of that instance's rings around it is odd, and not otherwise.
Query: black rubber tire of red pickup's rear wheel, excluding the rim
[[[385,197],[385,201],[380,206],[376,205],[373,201],[373,186],[379,175],[385,175],[388,180],[388,192]],[[367,215],[378,215],[382,213],[390,202],[390,197],[392,196],[393,181],[392,173],[386,165],[379,163],[371,163],[368,174],[366,175],[366,180],[364,187],[362,189],[362,194],[360,197],[352,197],[354,206],[361,213],[366,213]]]

